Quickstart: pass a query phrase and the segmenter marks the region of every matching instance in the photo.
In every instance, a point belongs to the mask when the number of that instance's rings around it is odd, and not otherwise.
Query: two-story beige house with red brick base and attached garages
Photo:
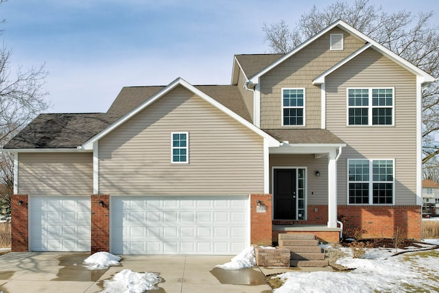
[[[14,153],[12,249],[230,254],[344,227],[420,239],[421,92],[434,78],[343,21],[230,85],[126,87],[42,114]],[[342,222],[340,222],[342,220]]]

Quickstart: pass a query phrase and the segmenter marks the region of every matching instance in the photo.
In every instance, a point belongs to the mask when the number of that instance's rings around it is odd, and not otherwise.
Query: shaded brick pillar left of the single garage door
[[[19,204],[19,201],[22,203]],[[22,253],[29,250],[27,203],[27,195],[13,194],[11,197],[12,252]]]

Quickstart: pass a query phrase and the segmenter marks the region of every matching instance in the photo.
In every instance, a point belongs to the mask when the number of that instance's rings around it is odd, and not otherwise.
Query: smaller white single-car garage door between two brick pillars
[[[90,196],[31,196],[32,251],[90,251]]]

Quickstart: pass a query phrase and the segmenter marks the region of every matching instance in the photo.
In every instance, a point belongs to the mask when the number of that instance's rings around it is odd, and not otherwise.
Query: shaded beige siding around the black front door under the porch
[[[273,167],[307,167],[307,204],[328,204],[327,157],[315,159],[313,154],[270,154],[270,172]],[[320,176],[314,175],[316,171]],[[270,191],[273,192],[271,175]]]

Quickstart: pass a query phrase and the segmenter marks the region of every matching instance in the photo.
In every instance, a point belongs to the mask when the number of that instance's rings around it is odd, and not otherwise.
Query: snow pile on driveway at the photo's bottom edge
[[[111,280],[104,281],[102,293],[142,293],[149,290],[157,290],[156,284],[162,281],[155,272],[133,272],[122,270],[115,274]]]

